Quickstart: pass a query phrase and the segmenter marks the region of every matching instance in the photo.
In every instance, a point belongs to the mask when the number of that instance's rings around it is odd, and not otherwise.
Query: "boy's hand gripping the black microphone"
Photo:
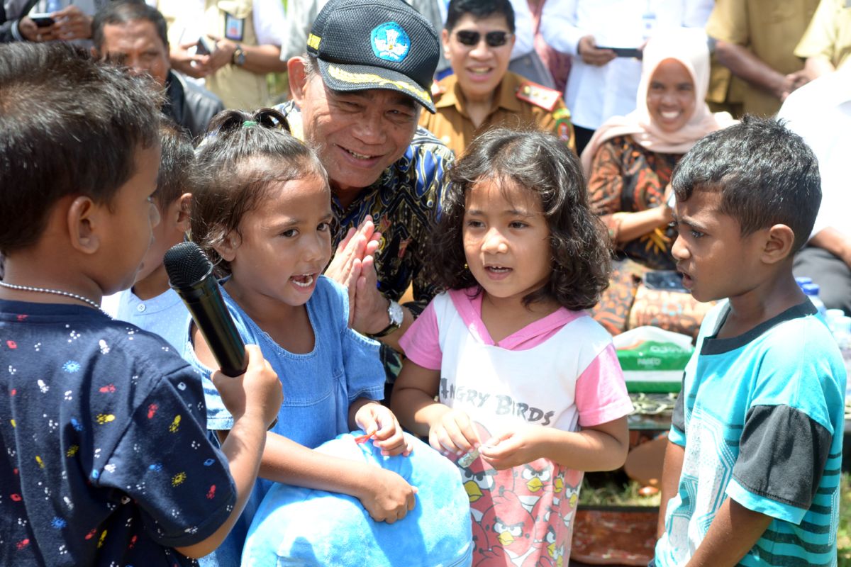
[[[277,374],[269,362],[260,353],[255,344],[245,345],[248,356],[248,368],[242,376],[235,378],[214,371],[210,379],[234,419],[243,415],[257,416],[266,424],[266,428],[275,421],[283,402],[283,388]]]

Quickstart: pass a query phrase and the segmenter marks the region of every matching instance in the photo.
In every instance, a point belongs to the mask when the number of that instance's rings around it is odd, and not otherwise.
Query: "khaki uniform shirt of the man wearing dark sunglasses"
[[[477,134],[497,126],[540,128],[555,133],[571,150],[576,151],[574,127],[562,94],[527,81],[511,71],[505,73],[494,94],[490,113],[478,128],[467,114],[457,77],[452,75],[435,83],[431,94],[437,113],[422,112],[420,126],[448,145],[455,156],[460,156]]]

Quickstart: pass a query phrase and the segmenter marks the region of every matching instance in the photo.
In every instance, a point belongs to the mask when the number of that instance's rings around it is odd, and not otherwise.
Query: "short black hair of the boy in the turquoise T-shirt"
[[[719,213],[739,221],[741,235],[774,224],[795,233],[791,253],[809,239],[821,204],[819,164],[813,150],[774,118],[742,122],[700,139],[674,169],[677,201],[694,191],[720,191]]]

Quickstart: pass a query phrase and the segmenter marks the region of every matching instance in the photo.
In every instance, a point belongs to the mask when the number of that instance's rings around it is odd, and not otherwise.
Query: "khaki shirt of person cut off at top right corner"
[[[851,1],[821,0],[795,48],[798,57],[820,57],[839,67],[851,55]]]

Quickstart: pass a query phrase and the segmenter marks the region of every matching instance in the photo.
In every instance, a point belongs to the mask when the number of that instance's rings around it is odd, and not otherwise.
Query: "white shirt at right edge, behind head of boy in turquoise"
[[[807,142],[819,160],[821,206],[810,238],[829,226],[851,235],[851,65],[798,88],[785,99],[777,117],[789,121],[787,126]]]

